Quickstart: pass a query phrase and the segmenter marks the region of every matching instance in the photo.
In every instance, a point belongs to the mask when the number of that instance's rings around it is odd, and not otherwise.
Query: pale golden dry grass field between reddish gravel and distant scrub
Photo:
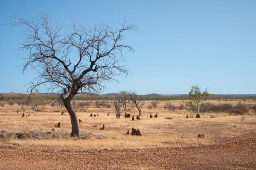
[[[22,118],[22,112],[17,105],[5,105],[0,108],[0,130],[3,130],[0,133],[0,144],[81,147],[84,149],[172,147],[226,142],[256,130],[256,116],[253,111],[243,118],[230,116],[229,113],[204,113],[201,114],[200,119],[196,119],[195,113],[188,112],[185,107],[178,109],[180,105],[185,106],[186,102],[188,101],[168,101],[177,107],[175,111],[164,109],[166,102],[158,102],[157,108],[144,107],[142,116],[140,116],[141,120],[135,121],[131,121],[131,118],[125,119],[124,111],[121,112],[121,118],[116,119],[114,108],[96,108],[92,104],[86,109],[87,112],[77,113],[78,119],[82,120],[82,123],[79,123],[80,139],[69,137],[70,117],[64,108],[46,106],[42,112],[38,113],[37,118],[35,118],[35,112],[27,108],[25,117]],[[207,102],[216,105],[218,103],[237,105],[239,101]],[[255,101],[246,103],[255,105]],[[149,104],[151,104],[150,101],[148,101]],[[61,116],[62,110],[66,115]],[[30,116],[26,117],[28,113]],[[90,117],[90,113],[99,114],[99,116]],[[108,113],[110,116],[107,116]],[[138,114],[135,108],[126,113],[130,113],[131,117]],[[153,116],[150,119],[150,114],[155,113],[158,118]],[[187,114],[188,119],[186,119]],[[51,129],[58,122],[61,122],[61,128],[55,128],[55,131],[52,131]],[[105,130],[100,130],[103,123]],[[127,129],[131,132],[132,127],[139,128],[142,136],[126,135]],[[26,133],[26,135],[19,139],[17,133]],[[205,134],[205,138],[198,139],[199,133]]]

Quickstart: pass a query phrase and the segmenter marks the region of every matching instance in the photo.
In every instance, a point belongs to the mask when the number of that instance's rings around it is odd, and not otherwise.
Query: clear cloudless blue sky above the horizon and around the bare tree
[[[10,16],[37,12],[70,26],[103,21],[137,24],[125,42],[128,77],[106,83],[106,93],[188,94],[192,85],[211,94],[256,94],[255,0],[5,0],[0,2],[0,93],[25,93],[35,72],[22,74],[21,27],[3,26]],[[40,91],[43,92],[44,87]]]

